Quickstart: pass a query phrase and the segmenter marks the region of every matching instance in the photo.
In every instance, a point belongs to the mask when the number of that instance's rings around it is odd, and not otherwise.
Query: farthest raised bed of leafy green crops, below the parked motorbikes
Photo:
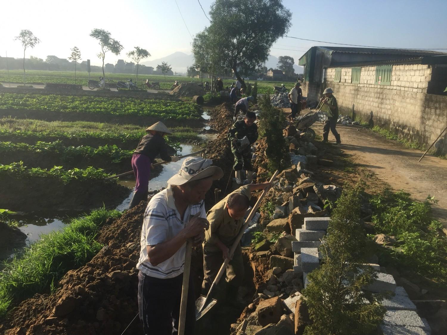
[[[198,105],[183,101],[137,99],[131,97],[67,96],[0,93],[0,109],[34,109],[162,119],[196,118],[202,115]]]

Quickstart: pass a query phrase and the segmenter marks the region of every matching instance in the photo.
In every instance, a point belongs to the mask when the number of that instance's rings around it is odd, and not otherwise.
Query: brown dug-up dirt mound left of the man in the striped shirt
[[[138,313],[139,239],[146,202],[105,225],[106,246],[83,267],[68,271],[54,294],[35,294],[11,310],[1,334],[121,334]],[[139,319],[128,334],[142,334]]]

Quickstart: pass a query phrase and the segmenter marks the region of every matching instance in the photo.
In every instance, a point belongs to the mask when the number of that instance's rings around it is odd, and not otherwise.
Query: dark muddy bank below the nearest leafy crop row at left
[[[114,208],[131,192],[113,180],[71,180],[63,184],[54,177],[0,176],[0,204],[20,212],[51,213],[58,210]]]

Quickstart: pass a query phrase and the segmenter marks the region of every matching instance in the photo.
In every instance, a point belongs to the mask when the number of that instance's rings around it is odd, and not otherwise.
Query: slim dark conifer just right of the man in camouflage
[[[258,132],[259,137],[266,138],[267,142],[267,169],[270,171],[283,170],[290,166],[289,150],[283,136],[283,124],[286,117],[283,112],[273,108],[268,94],[264,95],[259,105],[261,114]]]

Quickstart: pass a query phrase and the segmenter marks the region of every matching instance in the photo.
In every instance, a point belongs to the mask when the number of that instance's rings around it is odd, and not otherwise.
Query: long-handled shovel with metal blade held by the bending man
[[[270,178],[269,182],[273,182],[276,178],[276,176],[278,175],[278,170],[275,171],[275,173],[273,174],[273,176]],[[247,229],[251,219],[253,218],[253,215],[255,214],[257,208],[259,207],[259,204],[261,203],[262,199],[264,198],[264,196],[266,195],[268,189],[264,189],[264,191],[261,194],[261,197],[259,197],[259,199],[257,199],[256,204],[253,206],[253,209],[251,210],[248,218],[245,220],[244,226],[242,226],[242,228],[239,231],[239,234],[237,234],[236,236],[236,240],[234,241],[229,255],[230,258],[232,257],[232,255],[234,254],[234,251],[236,250],[237,245],[239,244],[240,239],[242,238],[242,235],[244,234],[245,229]],[[220,278],[223,276],[223,272],[226,271],[227,269],[227,265],[230,262],[230,260],[228,258],[225,259],[225,261],[223,262],[222,266],[219,269],[219,272],[217,273],[213,283],[211,284],[210,290],[208,291],[207,296],[203,296],[201,295],[200,297],[198,297],[198,299],[196,300],[196,320],[198,320],[199,318],[202,318],[202,316],[207,313],[211,307],[213,307],[217,300],[213,299],[212,296],[212,291],[215,288],[215,286],[219,283]]]

